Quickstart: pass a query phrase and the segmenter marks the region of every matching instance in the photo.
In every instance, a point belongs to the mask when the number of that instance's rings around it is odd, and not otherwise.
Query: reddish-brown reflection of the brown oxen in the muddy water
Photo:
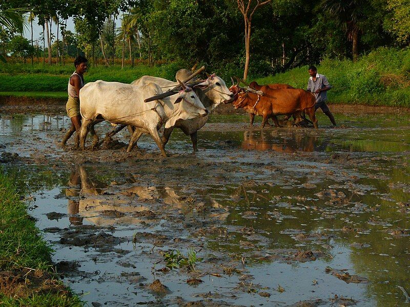
[[[245,131],[242,148],[247,150],[275,150],[278,152],[293,153],[295,151],[313,152],[315,150],[316,136],[310,135],[307,140],[300,133],[291,133],[283,138],[283,142],[274,143],[272,136],[267,131],[260,135],[255,131]]]

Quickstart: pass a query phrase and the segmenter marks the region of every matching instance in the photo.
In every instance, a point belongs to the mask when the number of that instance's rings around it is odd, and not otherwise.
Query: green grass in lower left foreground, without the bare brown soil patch
[[[30,268],[53,275],[51,247],[40,235],[27,205],[20,200],[12,180],[0,169],[0,271]],[[53,275],[54,276],[54,275]],[[60,281],[56,281],[61,283]],[[41,293],[14,299],[0,293],[2,306],[82,306],[77,296]]]

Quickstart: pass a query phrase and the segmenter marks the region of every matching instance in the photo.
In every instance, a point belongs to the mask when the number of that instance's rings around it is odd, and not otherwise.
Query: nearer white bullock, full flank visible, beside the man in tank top
[[[138,128],[131,137],[127,151],[132,149],[143,133],[149,133],[162,155],[167,157],[158,134],[161,125],[165,124],[165,128],[170,128],[178,120],[206,116],[208,110],[190,87],[161,100],[144,102],[144,99],[161,93],[160,86],[155,83],[140,86],[101,80],[87,83],[80,90],[80,148],[85,148],[90,125],[104,119],[114,124]]]

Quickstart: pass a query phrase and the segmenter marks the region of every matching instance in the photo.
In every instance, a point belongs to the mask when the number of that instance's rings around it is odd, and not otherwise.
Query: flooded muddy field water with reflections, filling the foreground
[[[213,116],[196,155],[175,131],[162,158],[149,137],[126,153],[126,131],[119,149],[58,148],[67,117],[6,115],[0,154],[89,305],[408,305],[410,118],[336,120]],[[197,259],[165,270],[177,251]]]

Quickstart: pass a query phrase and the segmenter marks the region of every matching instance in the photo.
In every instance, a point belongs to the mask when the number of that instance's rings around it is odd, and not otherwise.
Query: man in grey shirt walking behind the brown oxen
[[[313,65],[309,67],[308,72],[311,76],[308,80],[308,91],[314,93],[316,97],[315,111],[320,107],[323,113],[329,117],[332,124],[336,126],[335,118],[326,104],[327,91],[329,91],[332,86],[330,86],[329,81],[327,81],[324,75],[317,73],[317,69]]]

